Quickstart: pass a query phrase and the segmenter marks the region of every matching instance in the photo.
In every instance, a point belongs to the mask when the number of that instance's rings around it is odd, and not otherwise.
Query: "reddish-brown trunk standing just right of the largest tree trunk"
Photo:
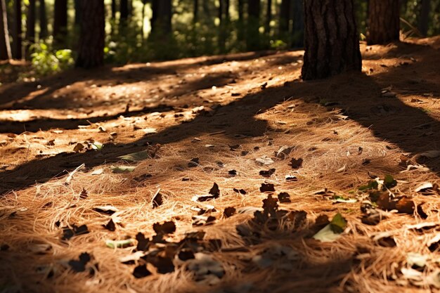
[[[399,0],[370,0],[367,44],[399,41]]]

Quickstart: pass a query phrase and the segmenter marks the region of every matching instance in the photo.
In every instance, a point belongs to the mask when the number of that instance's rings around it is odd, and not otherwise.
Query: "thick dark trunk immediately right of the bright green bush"
[[[104,0],[79,0],[82,23],[79,32],[77,67],[91,68],[104,64]]]

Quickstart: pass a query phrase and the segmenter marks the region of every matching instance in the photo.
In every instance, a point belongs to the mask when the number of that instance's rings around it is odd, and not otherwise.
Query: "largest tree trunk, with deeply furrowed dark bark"
[[[361,71],[353,0],[304,0],[304,19],[304,80]]]

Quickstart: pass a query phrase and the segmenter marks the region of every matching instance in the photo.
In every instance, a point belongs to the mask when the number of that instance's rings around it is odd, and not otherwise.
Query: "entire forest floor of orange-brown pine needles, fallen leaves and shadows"
[[[438,290],[440,38],[361,50],[0,86],[0,292]]]

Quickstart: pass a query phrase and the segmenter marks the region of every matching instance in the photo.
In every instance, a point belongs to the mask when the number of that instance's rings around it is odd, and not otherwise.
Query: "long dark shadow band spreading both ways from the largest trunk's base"
[[[418,47],[416,47],[418,48]],[[385,74],[368,77],[361,73],[347,73],[338,77],[317,82],[291,82],[285,86],[272,87],[217,108],[214,116],[199,115],[192,122],[179,124],[160,131],[158,134],[147,135],[139,141],[128,145],[106,145],[101,151],[101,156],[96,157],[95,152],[82,154],[60,154],[46,159],[36,159],[22,164],[10,171],[0,173],[0,194],[10,190],[26,188],[35,182],[45,182],[53,176],[63,174],[63,171],[86,163],[87,167],[95,167],[104,162],[112,162],[117,157],[128,152],[143,150],[145,147],[138,145],[148,141],[167,144],[181,141],[185,138],[224,131],[225,136],[236,134],[245,136],[263,136],[268,128],[268,123],[255,118],[263,110],[272,108],[282,103],[286,98],[299,98],[310,103],[320,103],[329,100],[337,103],[337,108],[342,108],[349,116],[362,126],[373,130],[377,138],[394,143],[403,152],[417,155],[426,150],[440,148],[440,122],[423,109],[414,108],[403,103],[399,98],[384,98],[381,89],[385,86],[382,82],[389,82],[392,76],[412,70],[412,77],[422,72],[422,67],[433,62],[432,58],[439,60],[438,51],[431,48],[420,48],[432,53],[429,57],[420,58],[418,63],[406,67],[395,67]],[[415,52],[416,53],[416,52]],[[429,71],[428,71],[429,73]],[[399,79],[396,79],[399,86]],[[419,94],[430,91],[435,96],[440,96],[439,84],[420,84],[413,87],[413,93]],[[399,87],[395,89],[399,93]],[[429,129],[426,129],[426,128]],[[120,148],[124,146],[125,148]],[[440,171],[439,159],[419,158],[432,171]],[[51,166],[51,169],[47,167]],[[18,181],[17,178],[25,180]]]

